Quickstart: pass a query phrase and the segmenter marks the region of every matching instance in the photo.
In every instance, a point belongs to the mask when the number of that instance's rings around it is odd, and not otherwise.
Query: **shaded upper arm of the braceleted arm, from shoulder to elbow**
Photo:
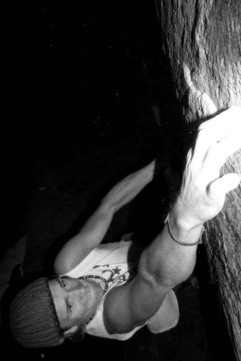
[[[138,274],[130,283],[109,291],[104,301],[104,319],[111,333],[127,333],[146,322],[161,307],[170,289],[155,287]]]

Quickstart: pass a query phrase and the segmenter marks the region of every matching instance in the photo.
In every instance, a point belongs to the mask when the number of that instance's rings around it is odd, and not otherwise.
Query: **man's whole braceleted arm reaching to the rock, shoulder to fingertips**
[[[226,158],[241,147],[241,108],[233,107],[201,124],[194,151],[187,155],[179,196],[172,207],[170,229],[180,242],[198,241],[204,222],[223,207],[225,194],[240,182],[238,174],[220,177]],[[129,332],[160,308],[166,294],[191,274],[197,246],[170,237],[167,225],[145,249],[135,279],[115,287],[104,302],[109,333]]]

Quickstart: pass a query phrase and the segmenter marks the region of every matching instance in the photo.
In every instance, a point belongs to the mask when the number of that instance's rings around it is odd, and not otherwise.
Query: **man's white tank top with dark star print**
[[[177,299],[171,290],[165,297],[158,312],[145,324],[137,326],[134,330],[124,334],[109,334],[103,321],[104,300],[110,289],[130,282],[138,272],[138,263],[143,251],[138,241],[120,241],[114,243],[100,244],[94,248],[88,256],[65,276],[78,278],[87,275],[103,277],[108,282],[108,289],[104,294],[97,312],[91,322],[86,326],[85,332],[99,337],[126,340],[130,338],[139,328],[147,324],[153,333],[163,332],[174,327],[179,318]],[[104,288],[104,282],[100,282]]]

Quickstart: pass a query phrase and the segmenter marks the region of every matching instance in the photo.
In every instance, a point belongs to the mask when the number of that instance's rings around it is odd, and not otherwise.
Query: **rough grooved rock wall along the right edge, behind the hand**
[[[241,106],[240,0],[156,0],[163,48],[169,58],[186,134],[193,124]],[[240,134],[241,136],[241,134]],[[241,150],[221,173],[241,173]],[[230,192],[203,236],[220,316],[241,359],[241,187]]]

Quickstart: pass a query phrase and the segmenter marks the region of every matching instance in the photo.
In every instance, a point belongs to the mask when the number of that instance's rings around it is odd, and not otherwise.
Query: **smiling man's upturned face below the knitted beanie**
[[[49,281],[61,328],[78,326],[93,315],[103,290],[94,280],[78,278],[54,278]]]

